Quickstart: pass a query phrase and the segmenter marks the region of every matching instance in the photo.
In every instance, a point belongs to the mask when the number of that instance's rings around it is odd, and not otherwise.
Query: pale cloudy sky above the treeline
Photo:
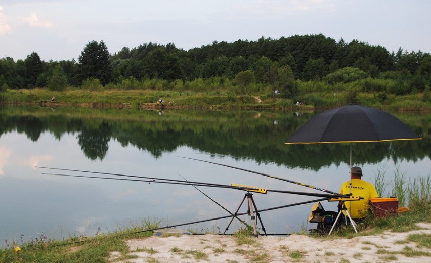
[[[0,58],[77,61],[91,41],[113,54],[320,33],[431,53],[430,12],[429,0],[0,0]]]

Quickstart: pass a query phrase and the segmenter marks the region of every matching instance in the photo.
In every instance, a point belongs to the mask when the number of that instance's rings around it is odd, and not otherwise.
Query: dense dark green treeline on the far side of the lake
[[[188,51],[173,43],[144,43],[110,54],[103,41],[89,42],[75,60],[45,62],[36,52],[25,60],[0,59],[0,89],[209,90],[237,93],[280,90],[346,90],[396,95],[429,90],[431,55],[318,35],[216,42]],[[310,84],[312,83],[312,84]],[[310,87],[311,86],[311,87]],[[323,86],[323,87],[322,87]],[[384,97],[384,95],[383,95]]]

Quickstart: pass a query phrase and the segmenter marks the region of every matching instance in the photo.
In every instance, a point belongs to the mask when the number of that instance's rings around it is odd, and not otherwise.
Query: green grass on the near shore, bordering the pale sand
[[[418,179],[419,182],[429,182],[429,176]],[[315,236],[319,239],[353,238],[356,236],[380,234],[385,230],[407,232],[416,230],[414,223],[431,222],[431,190],[428,186],[417,184],[417,181],[403,181],[402,187],[408,193],[408,207],[410,210],[395,217],[369,218],[359,225],[359,233],[351,227],[341,228],[332,236]],[[393,193],[397,193],[395,184]],[[407,200],[407,199],[406,199]],[[118,229],[115,233],[100,234],[93,237],[69,237],[65,240],[50,240],[45,235],[35,237],[29,242],[8,241],[5,248],[0,249],[0,262],[108,262],[110,253],[120,253],[118,260],[132,259],[130,248],[126,240],[132,238],[147,238],[159,228],[159,222],[144,221],[141,226],[128,229]],[[252,228],[242,229],[234,234],[237,244],[256,242]],[[171,234],[171,235],[181,235]],[[430,247],[429,235],[420,236],[420,242]],[[17,251],[17,247],[19,250]],[[15,251],[14,251],[15,250]],[[151,252],[151,251],[147,251]]]

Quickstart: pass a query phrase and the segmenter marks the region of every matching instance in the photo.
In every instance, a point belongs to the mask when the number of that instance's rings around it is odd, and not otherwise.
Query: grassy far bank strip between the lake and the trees
[[[55,98],[50,101],[51,98]],[[178,109],[262,109],[262,110],[314,110],[329,109],[348,104],[383,110],[431,111],[431,103],[422,100],[423,94],[403,96],[381,96],[375,93],[348,92],[309,93],[300,97],[303,106],[296,106],[295,101],[273,96],[268,92],[256,92],[250,95],[238,95],[224,89],[211,91],[160,91],[160,90],[115,90],[92,91],[69,89],[63,92],[48,89],[7,90],[0,93],[0,103],[18,105],[48,105],[76,107],[127,107],[157,108],[159,98],[164,108]]]

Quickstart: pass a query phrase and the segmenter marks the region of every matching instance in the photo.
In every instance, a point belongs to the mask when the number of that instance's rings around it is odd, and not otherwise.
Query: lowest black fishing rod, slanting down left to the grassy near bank
[[[267,212],[267,211],[272,211],[272,210],[286,208],[286,207],[291,207],[291,206],[296,206],[296,205],[303,205],[303,204],[309,204],[309,203],[314,203],[314,202],[321,202],[321,201],[325,201],[325,200],[329,200],[329,199],[330,199],[329,197],[325,197],[325,198],[320,198],[320,199],[316,199],[316,200],[310,200],[310,201],[304,201],[304,202],[299,202],[299,203],[294,203],[294,204],[287,204],[287,205],[282,205],[282,206],[276,206],[276,207],[271,207],[271,208],[266,208],[266,209],[259,210],[259,212]],[[246,215],[246,214],[248,214],[248,211],[247,212],[243,212],[243,213],[237,213],[238,216],[240,216],[240,215]],[[160,230],[160,229],[182,227],[182,226],[186,226],[186,225],[204,223],[204,222],[208,222],[208,221],[221,220],[221,219],[225,219],[225,218],[229,218],[229,217],[232,217],[232,215],[225,215],[225,216],[220,216],[220,217],[209,218],[209,219],[206,219],[206,220],[199,220],[199,221],[194,221],[194,222],[189,222],[189,223],[182,223],[182,224],[177,224],[177,225],[172,225],[172,226],[166,226],[166,227],[160,227],[160,228],[146,229],[146,230],[135,231],[135,232],[131,232],[131,233],[123,233],[123,234],[117,235],[116,237],[133,235],[133,234],[140,234],[140,233],[150,232],[150,231],[157,231],[157,230]],[[54,246],[49,246],[48,248],[53,248],[53,247],[58,247],[58,246],[73,245],[73,244],[83,243],[83,242],[87,242],[87,241],[90,241],[90,240],[79,240],[79,241],[74,241],[74,242],[70,242],[70,243],[66,243],[66,244],[58,244],[58,245],[54,245]]]

